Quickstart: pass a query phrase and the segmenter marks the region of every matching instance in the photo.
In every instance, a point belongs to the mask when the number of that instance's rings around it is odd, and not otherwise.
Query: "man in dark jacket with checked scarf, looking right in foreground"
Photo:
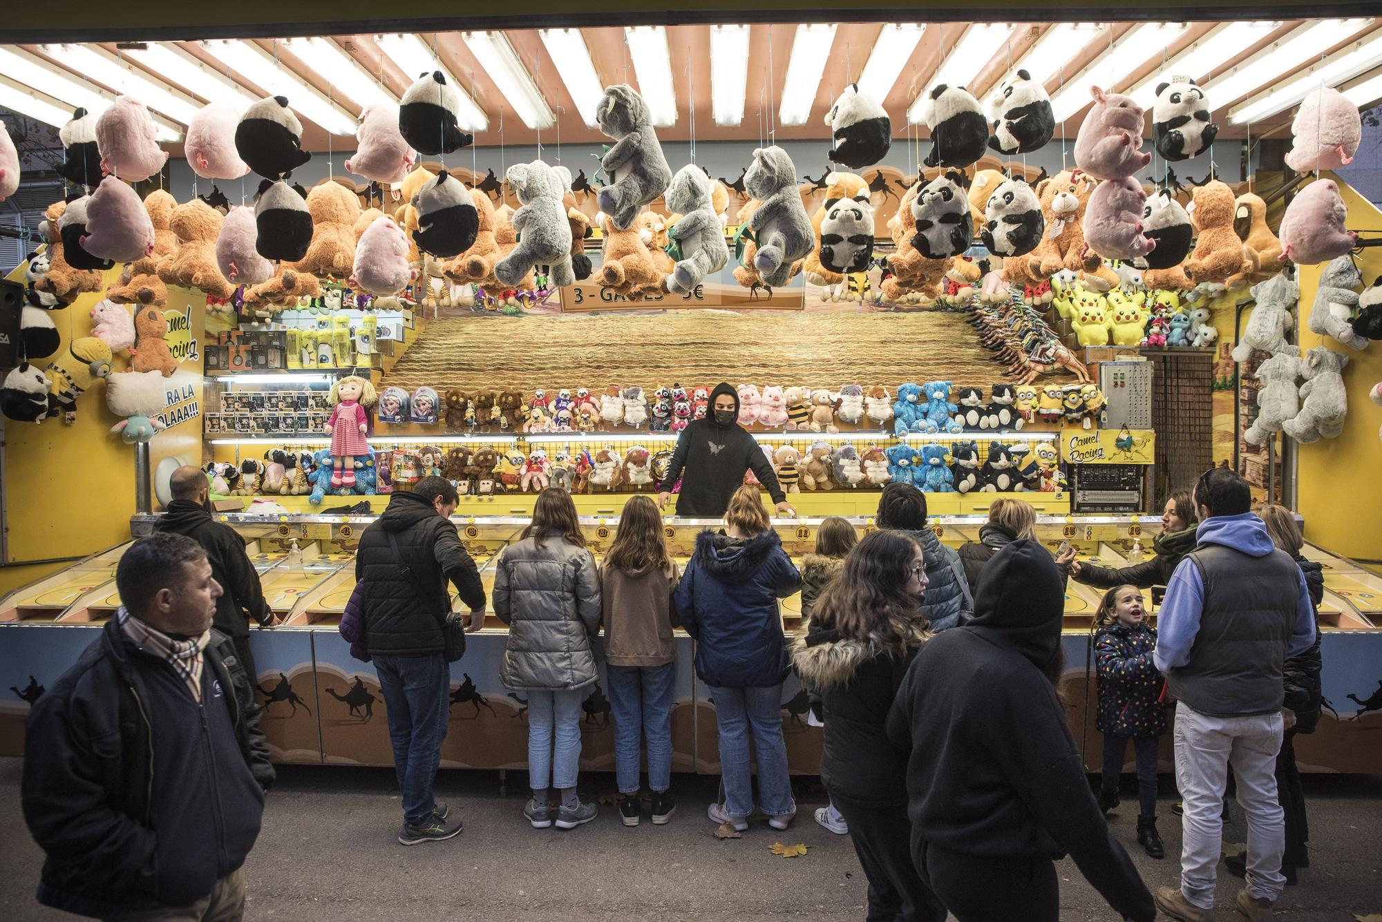
[[[115,571],[122,606],[29,712],[23,816],[39,901],[98,918],[239,919],[274,781],[221,588],[191,538],[153,534]]]

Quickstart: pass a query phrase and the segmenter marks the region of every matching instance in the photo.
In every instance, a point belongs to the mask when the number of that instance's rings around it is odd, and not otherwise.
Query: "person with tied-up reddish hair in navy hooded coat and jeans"
[[[753,785],[749,737],[757,754],[759,809],[775,830],[796,816],[782,743],[782,680],[789,672],[778,599],[802,576],[771,529],[756,486],[739,487],[724,513],[727,534],[702,531],[677,584],[681,627],[695,638],[695,671],[710,686],[720,729],[724,803],[706,816],[749,828]]]

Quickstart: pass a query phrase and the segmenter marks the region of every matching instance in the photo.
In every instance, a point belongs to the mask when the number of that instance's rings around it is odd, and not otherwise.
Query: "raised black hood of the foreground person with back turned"
[[[1045,669],[1060,649],[1064,607],[1056,560],[1041,541],[1023,538],[990,559],[974,596],[974,620],[959,629],[1010,647]]]

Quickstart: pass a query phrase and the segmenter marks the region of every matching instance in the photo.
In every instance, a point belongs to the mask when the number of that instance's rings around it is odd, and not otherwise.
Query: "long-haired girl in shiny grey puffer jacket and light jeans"
[[[499,680],[528,693],[532,801],[524,816],[536,828],[551,825],[550,774],[551,787],[561,791],[557,828],[589,823],[597,806],[576,798],[576,772],[580,704],[598,678],[591,647],[600,631],[600,571],[565,490],[538,494],[522,540],[504,548],[495,563],[492,602],[509,625]]]

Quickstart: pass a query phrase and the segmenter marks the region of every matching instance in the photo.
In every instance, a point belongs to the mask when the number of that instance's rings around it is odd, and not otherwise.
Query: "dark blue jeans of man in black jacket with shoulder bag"
[[[441,653],[376,653],[375,669],[388,709],[388,738],[394,744],[404,821],[419,825],[433,810],[431,788],[451,709],[451,667]]]

